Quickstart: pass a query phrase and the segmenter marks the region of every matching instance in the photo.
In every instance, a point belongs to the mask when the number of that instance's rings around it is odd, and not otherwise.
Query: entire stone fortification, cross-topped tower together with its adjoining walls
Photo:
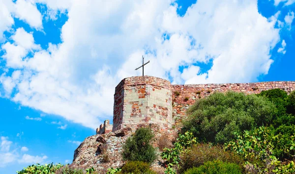
[[[106,120],[96,133],[103,134],[127,125],[147,123],[171,128],[185,117],[187,108],[197,99],[214,92],[258,94],[275,88],[290,93],[295,90],[295,81],[171,85],[168,80],[148,75],[127,77],[115,89],[113,125]]]

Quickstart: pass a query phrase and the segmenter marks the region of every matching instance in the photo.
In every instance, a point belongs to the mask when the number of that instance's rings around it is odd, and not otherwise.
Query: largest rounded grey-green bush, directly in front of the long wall
[[[191,106],[182,132],[193,132],[200,141],[226,143],[234,132],[272,123],[277,108],[265,97],[228,92],[214,93]]]

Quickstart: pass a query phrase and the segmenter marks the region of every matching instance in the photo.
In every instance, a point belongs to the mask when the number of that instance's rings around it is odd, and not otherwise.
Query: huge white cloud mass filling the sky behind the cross
[[[268,73],[280,41],[279,13],[266,19],[256,0],[198,0],[182,17],[171,0],[31,2],[46,4],[53,16],[67,11],[62,43],[41,50],[31,33],[25,42],[16,32],[2,49],[6,67],[20,73],[1,75],[4,96],[91,128],[112,117],[115,87],[141,75],[134,69],[142,55],[150,60],[146,75],[173,83],[249,82]],[[213,66],[202,72],[198,64],[208,62]]]

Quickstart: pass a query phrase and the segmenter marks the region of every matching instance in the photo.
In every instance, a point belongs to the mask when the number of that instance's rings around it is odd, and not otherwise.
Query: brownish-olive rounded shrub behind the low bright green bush
[[[242,158],[235,153],[224,151],[220,146],[211,146],[209,144],[197,144],[186,149],[181,153],[180,160],[180,173],[214,160],[236,163],[240,167],[242,167],[244,163]]]

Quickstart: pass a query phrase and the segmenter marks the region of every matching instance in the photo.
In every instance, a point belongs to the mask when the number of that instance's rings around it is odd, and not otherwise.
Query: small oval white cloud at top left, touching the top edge
[[[17,18],[26,21],[33,28],[42,29],[42,15],[30,0],[17,0],[15,8]]]

